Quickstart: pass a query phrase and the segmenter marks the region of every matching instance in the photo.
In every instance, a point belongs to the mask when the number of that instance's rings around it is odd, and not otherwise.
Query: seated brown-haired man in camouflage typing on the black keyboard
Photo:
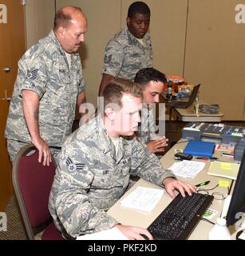
[[[140,176],[168,194],[195,188],[164,170],[155,154],[132,136],[140,122],[140,86],[124,79],[109,82],[104,91],[105,115],[81,126],[62,146],[49,196],[49,211],[59,230],[71,237],[117,226],[129,239],[149,239],[148,230],[118,224],[106,210],[124,194],[129,174]],[[109,106],[118,103],[119,107]]]

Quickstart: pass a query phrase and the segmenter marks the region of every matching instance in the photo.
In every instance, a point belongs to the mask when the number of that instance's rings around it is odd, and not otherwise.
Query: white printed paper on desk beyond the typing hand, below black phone
[[[188,161],[175,162],[169,170],[172,170],[176,176],[183,178],[195,178],[201,170],[204,169],[205,162]]]

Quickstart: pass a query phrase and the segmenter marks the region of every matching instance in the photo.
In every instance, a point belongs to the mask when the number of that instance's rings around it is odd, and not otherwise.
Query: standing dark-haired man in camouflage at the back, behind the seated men
[[[144,2],[132,2],[128,7],[127,26],[105,47],[99,95],[113,78],[133,81],[136,72],[153,66],[152,43],[148,34],[151,10]]]

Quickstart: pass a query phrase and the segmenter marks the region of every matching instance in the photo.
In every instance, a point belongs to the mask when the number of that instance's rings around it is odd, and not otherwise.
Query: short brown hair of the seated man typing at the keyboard
[[[104,109],[109,103],[122,106],[121,98],[123,94],[131,94],[136,98],[143,98],[142,90],[139,85],[128,79],[115,78],[105,87],[102,96],[104,97]]]

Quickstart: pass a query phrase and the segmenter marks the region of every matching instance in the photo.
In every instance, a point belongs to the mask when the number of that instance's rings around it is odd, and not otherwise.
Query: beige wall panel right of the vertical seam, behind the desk
[[[201,83],[200,98],[219,103],[225,120],[244,120],[245,24],[237,0],[189,1],[184,76]]]

